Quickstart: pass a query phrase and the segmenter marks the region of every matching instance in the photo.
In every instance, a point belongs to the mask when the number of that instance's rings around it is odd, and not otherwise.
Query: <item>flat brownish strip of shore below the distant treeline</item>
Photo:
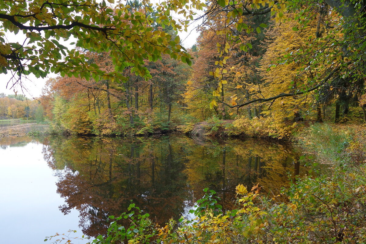
[[[26,136],[27,134],[47,134],[49,125],[38,125],[37,123],[25,123],[0,127],[0,137],[3,136]]]

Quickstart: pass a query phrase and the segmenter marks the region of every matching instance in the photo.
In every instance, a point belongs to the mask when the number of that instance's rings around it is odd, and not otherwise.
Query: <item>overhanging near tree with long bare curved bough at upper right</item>
[[[338,23],[328,35],[325,37],[318,37],[318,43],[311,45],[310,49],[299,49],[296,52],[292,52],[289,55],[283,57],[282,62],[300,62],[307,61],[309,67],[312,69],[318,69],[322,67],[322,72],[318,72],[312,80],[298,87],[291,93],[280,93],[272,97],[257,98],[245,103],[229,105],[229,107],[242,107],[253,102],[267,102],[276,100],[281,97],[296,96],[307,94],[308,92],[329,86],[333,82],[340,79],[346,80],[349,84],[354,84],[358,80],[363,79],[363,73],[365,73],[365,63],[362,56],[365,55],[365,4],[363,1],[325,1],[329,7],[336,12],[339,17]],[[307,24],[317,17],[316,9],[320,8],[322,3],[318,1],[308,0],[296,0],[296,1],[270,1],[270,0],[254,0],[254,1],[217,1],[208,7],[206,11],[206,18],[209,16],[216,16],[218,13],[225,12],[226,15],[226,28],[223,31],[218,31],[217,34],[223,35],[225,41],[223,43],[217,43],[219,48],[220,57],[222,60],[228,56],[231,46],[234,43],[238,43],[239,35],[242,32],[251,33],[254,31],[253,26],[248,25],[244,20],[248,15],[265,15],[270,14],[275,16],[274,19],[277,23],[283,22],[287,19],[288,12],[295,12],[294,19],[297,20],[298,26],[294,27],[297,31],[301,28],[306,28]],[[232,28],[233,26],[235,28]],[[255,28],[257,32],[261,31],[261,27],[266,28],[266,24],[262,24]],[[343,38],[337,38],[340,35]],[[309,37],[310,39],[311,37]],[[329,53],[329,56],[324,55],[323,49],[329,46],[334,46],[334,52]],[[250,43],[242,43],[241,49],[247,50],[251,48]],[[214,96],[220,97],[221,87],[224,74],[228,72],[227,67],[221,62],[220,69],[213,72],[214,77],[218,80],[219,86],[217,91],[214,92]],[[221,101],[217,98],[219,102]],[[212,102],[213,105],[217,105],[216,101]]]

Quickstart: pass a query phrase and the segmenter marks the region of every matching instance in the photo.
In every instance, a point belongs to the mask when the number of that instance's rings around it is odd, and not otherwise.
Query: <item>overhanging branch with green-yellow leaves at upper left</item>
[[[130,6],[122,3],[112,8],[104,0],[1,1],[0,72],[12,72],[13,83],[30,73],[45,77],[49,72],[87,80],[93,77],[96,81],[124,81],[127,77],[122,71],[126,67],[146,79],[151,77],[143,60],[156,61],[163,53],[190,64],[190,56],[179,45],[178,36],[172,38],[164,30],[153,29],[154,21],[167,24],[170,20],[164,13],[153,19],[149,15],[152,4],[148,2],[143,9],[130,12]],[[171,26],[175,30],[184,28],[179,23]],[[8,33],[19,36],[20,41],[8,41]],[[92,52],[108,52],[114,70],[101,70],[62,41]]]

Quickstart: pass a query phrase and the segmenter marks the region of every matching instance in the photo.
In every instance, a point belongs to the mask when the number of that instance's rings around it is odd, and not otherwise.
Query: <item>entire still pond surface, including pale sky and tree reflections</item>
[[[131,201],[164,224],[187,216],[206,187],[229,208],[240,183],[276,194],[289,174],[308,174],[302,155],[280,141],[175,134],[0,138],[1,243],[51,243],[44,237],[69,229],[104,234],[108,216],[127,211]]]

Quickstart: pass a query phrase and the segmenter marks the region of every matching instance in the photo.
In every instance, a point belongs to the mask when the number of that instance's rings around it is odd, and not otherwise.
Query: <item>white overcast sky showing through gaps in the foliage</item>
[[[196,43],[196,39],[199,35],[199,33],[196,31],[196,27],[197,24],[191,24],[188,27],[187,32],[179,33],[180,39],[182,40],[182,44],[185,48],[190,48]],[[14,34],[8,34],[7,39],[10,42],[22,42],[25,39],[25,35],[23,35],[22,33],[19,33],[16,36]],[[70,40],[70,42],[72,41]],[[70,46],[67,45],[67,42],[61,44],[65,46]],[[29,75],[22,80],[22,86],[18,84],[15,87],[12,86],[12,83],[10,81],[11,77],[12,75],[10,73],[6,75],[0,74],[0,93],[5,93],[6,95],[9,95],[9,94],[15,94],[15,92],[17,92],[17,94],[26,95],[27,98],[38,98],[42,93],[42,88],[44,87],[46,81],[49,78],[57,77],[57,75],[51,73],[45,79],[36,78],[33,75]]]

